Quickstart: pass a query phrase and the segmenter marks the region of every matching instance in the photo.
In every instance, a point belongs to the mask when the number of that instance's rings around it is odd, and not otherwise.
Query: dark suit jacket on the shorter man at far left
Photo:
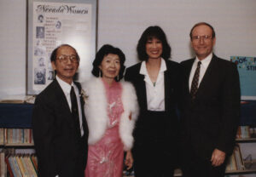
[[[80,92],[80,84],[75,84]],[[38,94],[32,113],[32,130],[39,176],[83,174],[87,162],[88,128],[82,97],[80,101],[84,127],[82,138],[76,133],[72,113],[59,83],[54,80]]]

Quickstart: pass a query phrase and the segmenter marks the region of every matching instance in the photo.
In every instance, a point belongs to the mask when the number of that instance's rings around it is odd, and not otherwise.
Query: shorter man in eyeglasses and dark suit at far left
[[[55,79],[35,101],[32,130],[41,177],[84,177],[88,128],[81,86],[73,82],[79,54],[63,44],[50,57]]]

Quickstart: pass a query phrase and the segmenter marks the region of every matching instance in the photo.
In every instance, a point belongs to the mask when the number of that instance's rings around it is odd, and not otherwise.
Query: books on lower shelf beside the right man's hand
[[[235,170],[244,170],[244,162],[241,157],[241,149],[239,145],[236,145],[233,154],[230,156],[226,172]]]

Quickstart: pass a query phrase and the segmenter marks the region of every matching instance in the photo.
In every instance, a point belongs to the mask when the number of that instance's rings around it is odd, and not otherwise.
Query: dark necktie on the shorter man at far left
[[[79,136],[81,136],[80,123],[79,123],[79,106],[78,106],[78,100],[74,92],[73,86],[71,87],[71,91],[70,91],[70,99],[71,99],[71,110],[72,110],[74,125],[77,133],[79,134]]]

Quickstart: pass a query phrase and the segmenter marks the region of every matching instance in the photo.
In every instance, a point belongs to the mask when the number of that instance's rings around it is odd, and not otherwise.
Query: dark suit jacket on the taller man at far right
[[[230,155],[233,151],[240,117],[240,83],[236,64],[212,60],[192,102],[189,74],[194,59],[181,63],[184,71],[182,135],[183,153],[193,151],[209,160],[215,148]]]

